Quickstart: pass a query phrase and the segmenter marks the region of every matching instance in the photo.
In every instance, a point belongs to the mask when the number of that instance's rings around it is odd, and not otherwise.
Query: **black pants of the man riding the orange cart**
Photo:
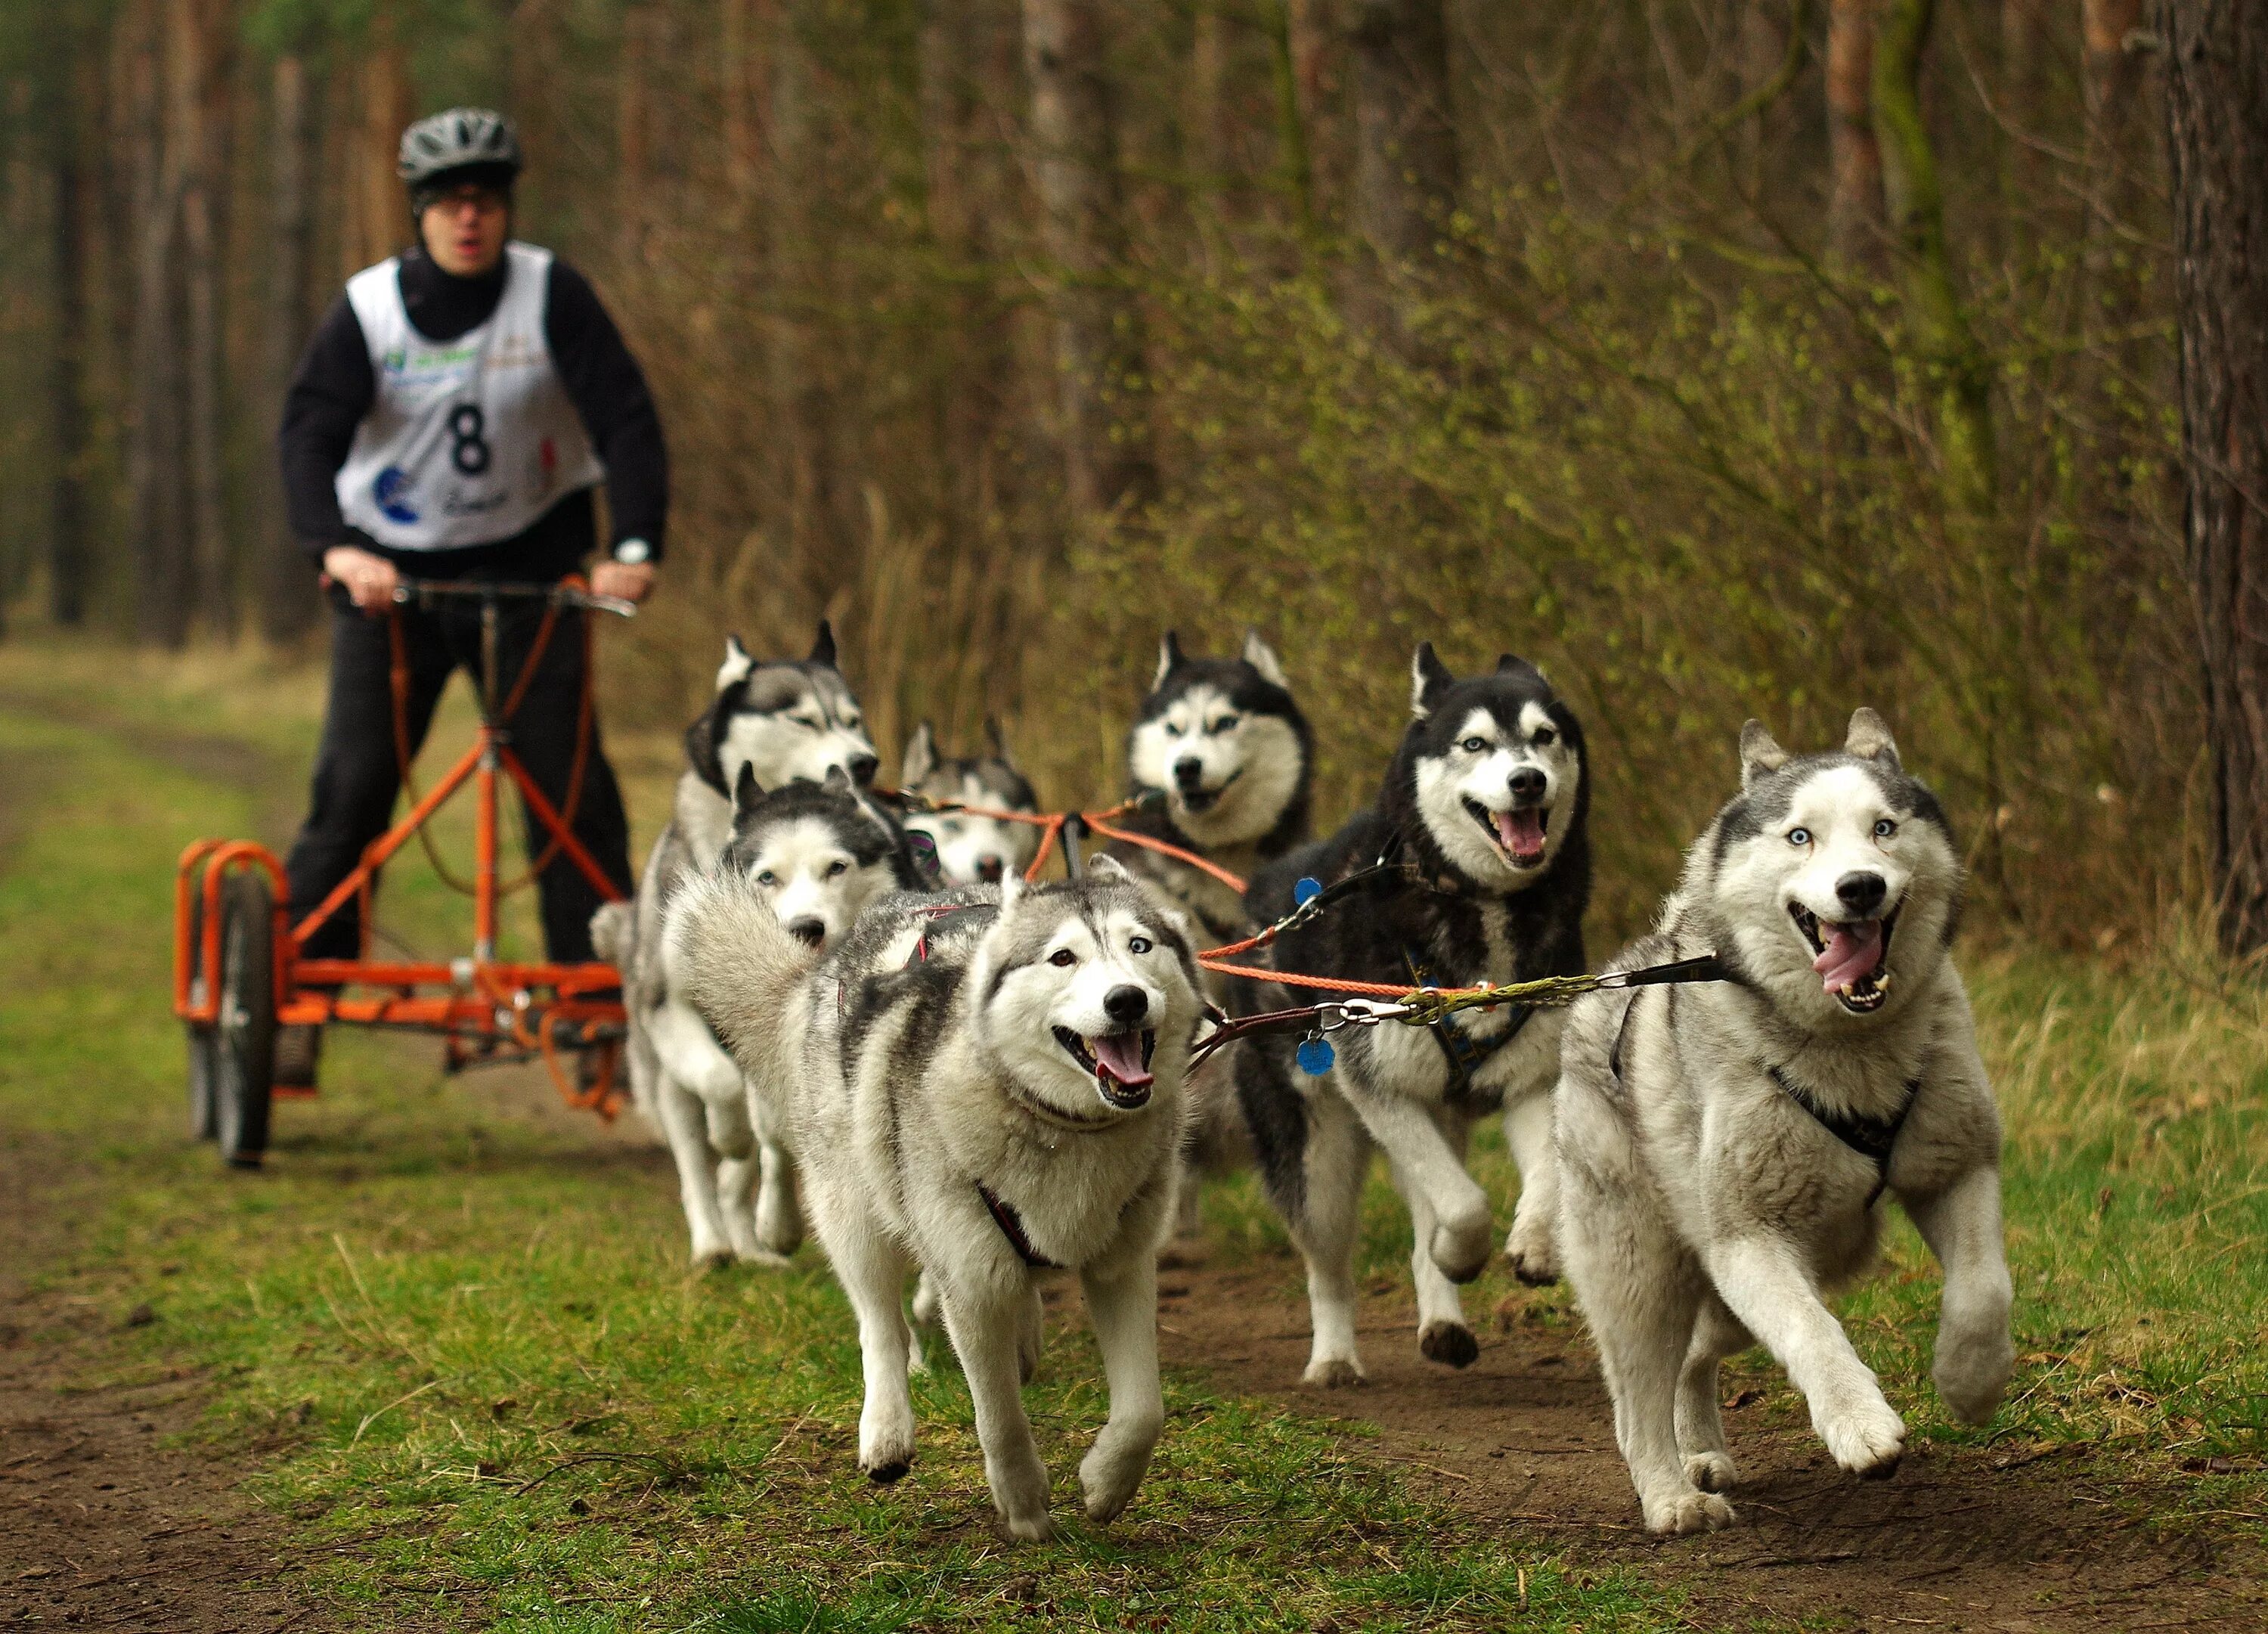
[[[415,753],[433,722],[433,706],[440,701],[449,674],[463,667],[479,685],[481,610],[474,601],[451,601],[440,610],[404,606],[397,608],[397,617],[408,658],[408,738],[411,753]],[[542,617],[540,601],[499,604],[499,708],[526,665]],[[574,772],[585,617],[578,608],[560,608],[535,676],[519,701],[519,713],[503,722],[510,751],[519,756],[553,810],[565,810],[567,781]],[[333,592],[331,701],[322,722],[322,747],[315,751],[315,787],[308,797],[306,824],[299,828],[286,862],[295,919],[329,896],[331,887],[363,860],[363,847],[392,824],[401,767],[395,760],[390,667],[392,647],[386,620],[340,606]],[[583,794],[576,801],[572,828],[606,876],[628,892],[631,826],[621,810],[615,769],[606,763],[606,751],[599,744],[596,715],[592,715],[590,731],[590,760],[583,767]],[[549,833],[531,810],[528,842],[538,853],[549,844]],[[469,869],[458,871],[469,876]],[[538,876],[535,890],[542,899],[544,946],[551,958],[558,962],[592,958],[590,917],[603,899],[565,851],[551,858]],[[356,903],[349,899],[308,937],[304,958],[356,958],[358,949],[361,928]]]

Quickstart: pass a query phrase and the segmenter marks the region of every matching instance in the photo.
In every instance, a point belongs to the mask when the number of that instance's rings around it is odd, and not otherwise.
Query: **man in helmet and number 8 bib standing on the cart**
[[[519,138],[488,109],[449,109],[401,134],[417,245],[347,279],[299,359],[279,454],[293,533],[331,599],[331,694],[306,824],[293,842],[290,901],[320,903],[386,833],[395,756],[388,613],[408,658],[408,744],[424,742],[449,674],[479,674],[474,604],[395,606],[404,579],[556,583],[599,545],[592,490],[606,481],[612,540],[590,570],[599,595],[642,601],[662,558],[669,463],[646,377],[581,272],[510,238]],[[531,649],[542,604],[506,601],[499,688]],[[517,715],[513,751],[567,806],[587,617],[562,608]],[[631,887],[621,790],[596,740],[574,835]],[[542,828],[533,812],[528,835]],[[538,878],[544,946],[592,958],[599,894],[556,856]],[[306,958],[356,958],[354,903]],[[313,1085],[320,1033],[286,1028],[277,1083]]]

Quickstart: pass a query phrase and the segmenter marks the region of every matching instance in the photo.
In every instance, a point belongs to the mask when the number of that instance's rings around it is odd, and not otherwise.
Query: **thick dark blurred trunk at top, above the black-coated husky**
[[[1456,204],[1449,30],[1442,0],[1356,0],[1354,231],[1370,252],[1365,320],[1411,338],[1408,270]]]

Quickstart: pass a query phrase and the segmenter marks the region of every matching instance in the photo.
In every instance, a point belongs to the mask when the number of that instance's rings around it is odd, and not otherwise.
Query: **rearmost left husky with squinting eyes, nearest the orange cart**
[[[637,881],[637,896],[592,917],[599,955],[624,976],[631,1094],[676,1157],[694,1262],[778,1260],[794,1250],[803,1226],[785,1153],[767,1144],[758,1169],[739,1076],[669,985],[662,915],[685,876],[714,867],[733,844],[733,790],[744,774],[753,776],[758,790],[823,783],[830,776],[853,790],[873,778],[875,765],[857,699],[835,667],[835,631],[828,624],[819,624],[812,656],[801,663],[760,663],[737,635],[728,638],[717,669],[717,697],[685,731],[685,772],[678,776],[669,826],[653,842]],[[835,917],[848,924],[855,908],[844,912],[841,899],[855,894],[873,869],[857,858],[894,828],[864,797],[846,794],[835,803],[866,815],[853,824],[857,844],[807,828],[767,828],[764,837],[767,844],[792,844],[796,851],[794,862],[773,867],[782,878],[850,860],[857,874],[835,876],[823,887],[814,883],[814,901],[837,899]],[[894,883],[896,874],[885,871],[885,887]],[[812,917],[803,908],[796,912]],[[816,917],[823,921],[828,915]],[[760,1173],[762,1203],[751,1210]]]

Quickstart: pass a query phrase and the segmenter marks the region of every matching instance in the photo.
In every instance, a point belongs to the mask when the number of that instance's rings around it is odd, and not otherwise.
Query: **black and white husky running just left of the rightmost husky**
[[[1581,971],[1590,787],[1574,713],[1520,658],[1458,681],[1431,642],[1413,663],[1411,713],[1377,803],[1252,883],[1254,917],[1272,921],[1290,912],[1300,878],[1331,885],[1377,869],[1368,887],[1286,933],[1275,969],[1408,987]],[[1293,1064],[1290,1037],[1238,1046],[1236,1096],[1261,1176],[1306,1257],[1311,1384],[1363,1378],[1354,1248],[1372,1146],[1417,1228],[1411,1271],[1427,1357],[1465,1366],[1479,1355],[1456,1285],[1488,1262],[1490,1212],[1465,1171],[1465,1139],[1499,1105],[1522,1178],[1513,1264],[1531,1280],[1556,1275],[1549,1089],[1560,1024],[1556,1010],[1467,1010],[1436,1028],[1349,1028],[1320,1078]]]

